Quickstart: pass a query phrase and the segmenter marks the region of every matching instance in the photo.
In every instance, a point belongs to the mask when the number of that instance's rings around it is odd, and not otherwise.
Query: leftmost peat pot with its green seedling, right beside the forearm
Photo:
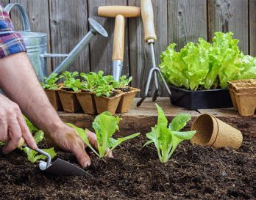
[[[49,78],[45,77],[45,82],[41,83],[41,86],[43,87],[44,92],[46,92],[49,102],[56,111],[62,110],[63,108],[63,106],[60,103],[60,97],[57,92],[57,81],[59,81],[59,79],[60,77],[57,77],[57,73],[53,73],[49,76]]]

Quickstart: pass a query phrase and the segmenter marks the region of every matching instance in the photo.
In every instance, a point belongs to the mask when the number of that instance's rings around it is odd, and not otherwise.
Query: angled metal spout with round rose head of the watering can
[[[73,48],[73,50],[68,53],[67,57],[63,60],[63,62],[52,72],[52,73],[61,73],[67,69],[67,67],[74,62],[75,59],[77,59],[77,56],[79,56],[79,53],[83,51],[86,45],[92,40],[92,38],[96,34],[101,34],[104,37],[108,37],[107,32],[104,30],[104,28],[94,21],[92,18],[88,19],[90,23],[90,31],[88,34],[85,35],[84,38]],[[51,73],[51,74],[52,74]]]

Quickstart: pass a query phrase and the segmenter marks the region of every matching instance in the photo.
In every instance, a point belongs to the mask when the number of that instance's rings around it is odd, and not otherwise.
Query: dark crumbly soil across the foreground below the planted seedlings
[[[52,177],[15,150],[0,155],[0,199],[256,199],[255,138],[238,151],[179,145],[168,163],[144,136],[127,141],[115,158],[93,156],[92,178]],[[77,163],[70,153],[59,158]]]

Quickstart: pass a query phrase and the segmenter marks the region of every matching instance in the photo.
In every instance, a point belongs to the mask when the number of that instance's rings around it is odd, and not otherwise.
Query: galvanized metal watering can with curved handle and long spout
[[[24,39],[26,45],[27,55],[29,60],[34,67],[35,73],[38,76],[39,81],[43,81],[44,77],[48,76],[47,73],[47,58],[51,57],[65,57],[63,62],[55,68],[52,73],[60,73],[67,69],[67,67],[77,59],[79,53],[83,51],[86,45],[92,40],[96,34],[101,34],[104,37],[108,37],[106,30],[92,18],[89,18],[90,31],[82,40],[72,49],[68,54],[54,54],[47,53],[48,38],[46,33],[31,32],[29,18],[26,14],[26,10],[21,4],[7,4],[4,10],[9,14],[13,7],[17,7],[18,11],[21,13],[21,18],[23,21],[24,31],[18,31]]]

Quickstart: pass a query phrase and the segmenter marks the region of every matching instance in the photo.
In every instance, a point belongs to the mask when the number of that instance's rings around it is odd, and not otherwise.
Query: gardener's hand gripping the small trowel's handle
[[[16,149],[21,137],[30,148],[37,148],[18,105],[0,95],[0,141],[7,141],[2,149],[3,153],[7,154]]]

